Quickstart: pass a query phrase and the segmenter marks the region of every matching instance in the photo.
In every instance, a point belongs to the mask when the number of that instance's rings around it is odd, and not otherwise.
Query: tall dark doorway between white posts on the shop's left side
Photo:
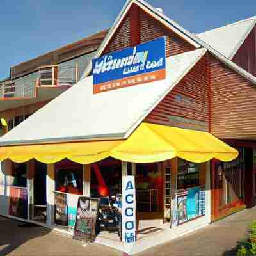
[[[35,161],[31,218],[46,223],[46,175],[47,164]]]

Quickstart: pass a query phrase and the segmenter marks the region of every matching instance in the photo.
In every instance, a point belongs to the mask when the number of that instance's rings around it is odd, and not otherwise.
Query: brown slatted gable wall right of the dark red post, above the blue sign
[[[140,41],[141,43],[166,36],[166,56],[173,56],[182,52],[195,50],[186,40],[166,28],[161,22],[140,10]]]

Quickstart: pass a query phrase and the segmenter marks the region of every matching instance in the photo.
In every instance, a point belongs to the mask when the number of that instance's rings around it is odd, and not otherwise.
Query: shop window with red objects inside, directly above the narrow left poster
[[[56,168],[55,190],[83,195],[83,167],[81,168]]]

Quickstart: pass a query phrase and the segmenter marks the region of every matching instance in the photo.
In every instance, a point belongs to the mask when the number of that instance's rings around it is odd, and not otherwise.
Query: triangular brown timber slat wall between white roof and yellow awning
[[[189,104],[175,100],[186,97]],[[186,101],[185,100],[185,101]],[[182,116],[194,120],[209,122],[209,64],[205,54],[173,90],[159,102],[156,108],[145,118],[145,122],[169,124],[169,116]]]

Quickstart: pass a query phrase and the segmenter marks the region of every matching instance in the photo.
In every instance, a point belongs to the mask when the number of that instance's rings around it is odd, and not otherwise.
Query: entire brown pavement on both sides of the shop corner
[[[256,207],[246,209],[200,230],[155,246],[138,256],[231,256],[236,242],[246,236],[246,227],[256,220]],[[0,216],[0,255],[10,256],[122,256],[123,253],[97,243],[84,244],[44,227]]]

